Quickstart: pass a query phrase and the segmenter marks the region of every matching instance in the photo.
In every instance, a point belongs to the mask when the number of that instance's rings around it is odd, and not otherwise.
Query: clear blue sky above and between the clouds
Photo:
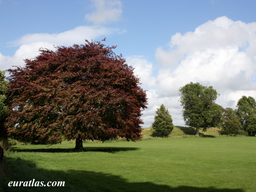
[[[123,55],[152,56],[155,49],[164,46],[176,32],[193,31],[220,16],[248,23],[254,22],[256,15],[254,0],[129,0],[121,3],[120,20],[105,26],[126,31],[122,35],[106,36],[106,43],[117,44],[117,51]],[[1,0],[0,52],[14,54],[16,49],[8,43],[25,34],[53,34],[76,26],[91,26],[93,23],[84,16],[94,10],[90,0]]]

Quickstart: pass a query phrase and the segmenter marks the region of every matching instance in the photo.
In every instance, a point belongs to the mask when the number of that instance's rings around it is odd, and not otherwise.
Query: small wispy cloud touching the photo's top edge
[[[116,22],[122,15],[120,0],[92,0],[96,11],[86,14],[85,18],[94,24],[107,24]]]

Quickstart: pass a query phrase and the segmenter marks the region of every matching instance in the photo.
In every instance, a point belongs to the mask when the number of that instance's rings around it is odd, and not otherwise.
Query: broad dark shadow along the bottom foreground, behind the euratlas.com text
[[[72,163],[72,162],[70,162]],[[48,170],[37,168],[32,161],[21,158],[4,159],[6,175],[0,175],[0,192],[245,192],[242,189],[218,189],[215,187],[171,187],[152,182],[129,182],[118,175],[102,172],[79,171],[79,170]],[[3,166],[3,165],[1,165]],[[64,181],[65,186],[60,187],[36,187],[36,186],[12,186],[10,181]]]

